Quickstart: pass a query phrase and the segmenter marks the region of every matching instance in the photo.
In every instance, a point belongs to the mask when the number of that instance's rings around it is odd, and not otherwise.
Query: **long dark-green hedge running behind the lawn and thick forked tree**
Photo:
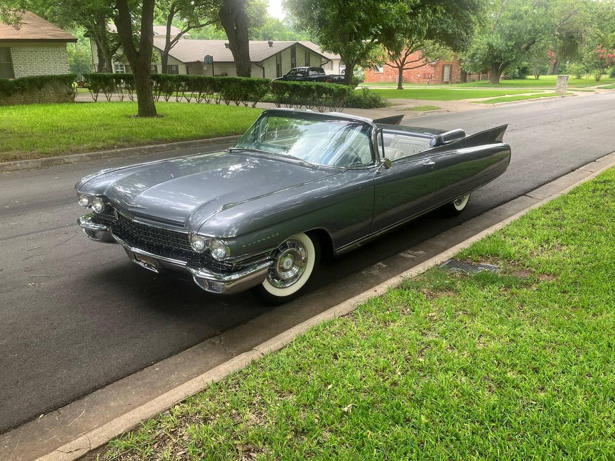
[[[111,100],[117,94],[120,100],[134,98],[132,74],[84,74],[86,87],[93,100],[100,94]],[[277,107],[305,107],[308,109],[341,110],[352,89],[345,85],[270,81],[249,77],[210,77],[199,75],[151,74],[154,98],[169,101],[192,100],[197,103],[244,104],[252,107],[264,100],[271,100]]]

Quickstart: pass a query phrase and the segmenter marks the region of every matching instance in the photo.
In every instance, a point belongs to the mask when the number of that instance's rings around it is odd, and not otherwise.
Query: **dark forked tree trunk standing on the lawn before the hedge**
[[[133,21],[139,15],[131,10],[128,0],[117,0],[117,14],[114,23],[117,35],[122,43],[124,55],[130,63],[135,79],[137,93],[138,117],[156,117],[156,104],[151,88],[149,72],[151,69],[152,52],[154,48],[154,0],[143,0],[140,4],[140,31],[138,33],[138,49],[135,45],[135,34],[132,30]]]

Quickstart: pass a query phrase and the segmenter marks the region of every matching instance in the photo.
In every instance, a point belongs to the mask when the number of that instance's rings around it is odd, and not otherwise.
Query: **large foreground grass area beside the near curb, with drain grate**
[[[173,406],[104,460],[611,459],[615,170]]]

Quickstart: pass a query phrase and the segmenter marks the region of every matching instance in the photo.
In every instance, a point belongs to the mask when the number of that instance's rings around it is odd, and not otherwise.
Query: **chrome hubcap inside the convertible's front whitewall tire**
[[[308,266],[308,251],[299,240],[289,238],[274,252],[267,280],[277,288],[287,288],[301,278]]]

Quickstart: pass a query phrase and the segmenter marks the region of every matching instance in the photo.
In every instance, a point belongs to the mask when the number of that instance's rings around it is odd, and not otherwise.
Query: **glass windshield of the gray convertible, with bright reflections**
[[[268,114],[235,147],[331,167],[372,163],[370,126],[354,120]]]

